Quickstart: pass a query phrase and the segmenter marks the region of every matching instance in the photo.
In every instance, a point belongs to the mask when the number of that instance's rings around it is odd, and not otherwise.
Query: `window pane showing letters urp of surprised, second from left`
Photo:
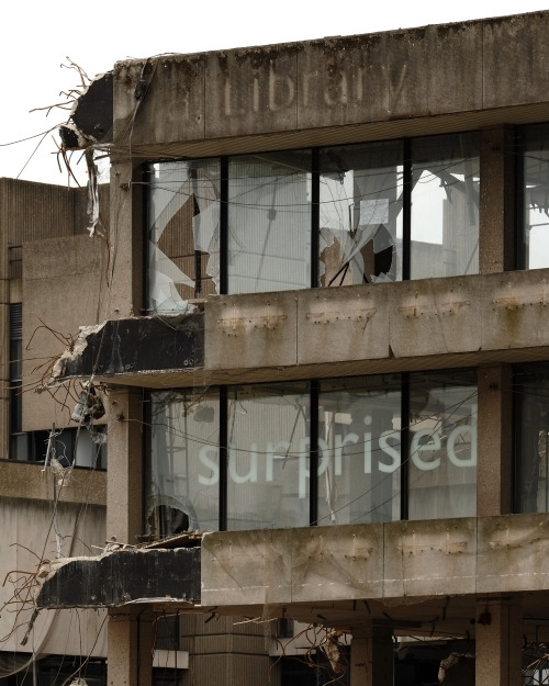
[[[227,528],[309,525],[309,384],[229,389]]]

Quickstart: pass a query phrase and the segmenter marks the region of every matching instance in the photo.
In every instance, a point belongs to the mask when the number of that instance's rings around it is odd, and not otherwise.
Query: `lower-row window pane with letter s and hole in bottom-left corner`
[[[147,529],[153,538],[219,528],[219,395],[150,394]]]

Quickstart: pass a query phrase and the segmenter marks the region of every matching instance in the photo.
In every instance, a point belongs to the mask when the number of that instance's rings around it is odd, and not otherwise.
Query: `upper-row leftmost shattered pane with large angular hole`
[[[148,168],[147,308],[186,312],[219,292],[220,162],[160,162]]]

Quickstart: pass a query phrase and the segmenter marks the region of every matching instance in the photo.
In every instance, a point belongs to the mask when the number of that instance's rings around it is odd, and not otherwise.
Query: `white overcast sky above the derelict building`
[[[78,72],[69,68],[71,63],[92,78],[121,59],[163,53],[306,41],[542,9],[548,9],[547,1],[11,1],[2,9],[0,29],[0,177],[68,183],[66,170],[58,167],[55,127],[67,121],[69,112],[54,108],[48,113],[43,108],[66,102],[60,93],[80,88]],[[51,128],[54,131],[43,136]],[[35,137],[10,145],[31,136]],[[72,157],[71,167],[85,184],[85,165],[79,157]]]

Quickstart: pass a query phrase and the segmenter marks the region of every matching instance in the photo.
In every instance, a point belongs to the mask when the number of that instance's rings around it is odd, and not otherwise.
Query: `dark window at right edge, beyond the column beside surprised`
[[[549,364],[515,372],[515,510],[549,511]]]

